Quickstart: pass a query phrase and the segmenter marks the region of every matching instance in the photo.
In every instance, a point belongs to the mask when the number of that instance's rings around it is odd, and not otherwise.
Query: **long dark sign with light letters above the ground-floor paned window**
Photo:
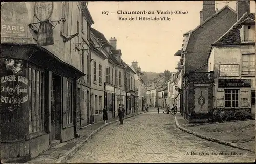
[[[219,79],[219,88],[251,87],[251,79]]]

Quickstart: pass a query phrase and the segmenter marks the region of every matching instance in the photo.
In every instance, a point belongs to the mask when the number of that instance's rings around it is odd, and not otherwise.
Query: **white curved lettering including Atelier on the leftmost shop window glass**
[[[17,83],[15,83],[17,82]],[[6,85],[3,85],[6,84]],[[9,86],[7,84],[10,84]],[[25,88],[22,88],[22,85]],[[12,86],[12,87],[10,87]],[[1,77],[1,102],[21,104],[28,101],[28,79],[23,76],[9,75]],[[2,96],[5,95],[5,96]],[[25,94],[22,96],[22,94]]]

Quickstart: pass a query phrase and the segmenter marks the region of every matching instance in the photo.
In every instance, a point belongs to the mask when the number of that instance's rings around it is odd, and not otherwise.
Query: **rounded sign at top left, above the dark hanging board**
[[[35,16],[39,21],[46,21],[52,16],[53,2],[35,2]]]

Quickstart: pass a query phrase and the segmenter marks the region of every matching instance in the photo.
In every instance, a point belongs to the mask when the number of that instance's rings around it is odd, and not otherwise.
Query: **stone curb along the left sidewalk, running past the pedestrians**
[[[140,114],[144,114],[146,112],[148,112],[148,111],[145,111],[143,113],[138,113],[138,114],[135,114],[135,115],[131,115],[131,116],[128,116],[128,117],[123,118],[123,119],[124,120],[125,119],[129,119],[131,117],[134,117],[134,116],[137,116],[137,115],[140,115]],[[109,122],[108,124],[100,126],[98,129],[93,131],[86,139],[83,139],[79,144],[77,144],[72,149],[67,151],[63,156],[59,157],[59,159],[55,163],[65,163],[69,158],[72,157],[72,155],[75,154],[75,152],[77,152],[84,144],[86,144],[89,140],[91,140],[93,138],[93,136],[96,135],[100,130],[102,130],[104,127],[106,127],[106,126],[108,126],[110,124],[116,123],[118,121],[119,120],[115,120],[115,121]]]

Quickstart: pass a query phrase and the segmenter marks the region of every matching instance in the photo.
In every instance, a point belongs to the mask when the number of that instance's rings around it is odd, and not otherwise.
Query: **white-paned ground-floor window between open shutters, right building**
[[[225,90],[225,107],[238,107],[238,91],[239,90]]]

